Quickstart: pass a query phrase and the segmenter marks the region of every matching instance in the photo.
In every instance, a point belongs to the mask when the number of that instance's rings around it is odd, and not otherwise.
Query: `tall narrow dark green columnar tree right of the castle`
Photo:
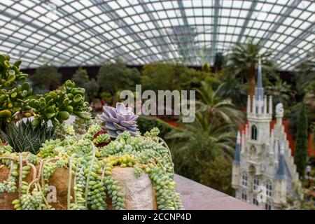
[[[307,114],[305,104],[302,104],[300,115],[297,123],[297,136],[295,141],[295,165],[300,179],[304,179],[305,168],[307,163]]]

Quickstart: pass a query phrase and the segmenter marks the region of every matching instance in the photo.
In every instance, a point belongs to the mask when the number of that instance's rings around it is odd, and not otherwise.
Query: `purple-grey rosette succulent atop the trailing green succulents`
[[[103,123],[103,128],[113,138],[125,131],[130,132],[133,136],[137,135],[137,115],[130,107],[125,107],[122,103],[117,103],[116,108],[104,106],[103,113],[99,120]]]

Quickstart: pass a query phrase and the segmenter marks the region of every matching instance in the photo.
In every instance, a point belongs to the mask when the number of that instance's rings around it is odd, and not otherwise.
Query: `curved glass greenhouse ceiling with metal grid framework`
[[[246,38],[261,40],[281,70],[314,52],[314,1],[5,0],[0,10],[0,52],[23,68],[117,58],[200,66]]]

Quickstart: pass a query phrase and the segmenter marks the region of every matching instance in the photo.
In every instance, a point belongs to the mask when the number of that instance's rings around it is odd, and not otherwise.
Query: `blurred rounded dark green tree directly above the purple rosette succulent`
[[[140,77],[137,69],[130,69],[123,62],[106,62],[99,69],[97,83],[102,91],[115,94],[118,90],[134,90],[140,83]]]

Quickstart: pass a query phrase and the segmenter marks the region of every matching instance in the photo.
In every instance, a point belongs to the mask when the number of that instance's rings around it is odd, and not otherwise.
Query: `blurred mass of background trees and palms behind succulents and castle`
[[[255,90],[258,57],[262,58],[265,91],[272,95],[274,106],[279,102],[284,105],[284,119],[290,122],[290,134],[295,138],[297,118],[304,102],[308,132],[314,135],[314,52],[307,56],[309,60],[283,78],[276,64],[269,60],[272,52],[259,55],[260,50],[259,43],[249,40],[235,45],[230,55],[218,52],[212,66],[206,63],[198,69],[167,62],[146,64],[141,68],[130,68],[121,60],[104,62],[95,79],[90,78],[85,69],[78,68],[72,80],[78,87],[85,88],[90,102],[99,103],[102,99],[111,106],[118,102],[120,91],[134,92],[137,84],[142,85],[142,91],[196,90],[195,122],[181,123],[181,119],[174,116],[173,119],[159,117],[164,121],[139,116],[139,130],[143,134],[153,127],[160,129],[160,137],[172,150],[177,174],[233,195],[230,182],[235,138],[245,122],[247,95]],[[30,79],[38,93],[61,85],[57,68],[48,65],[36,69]]]

